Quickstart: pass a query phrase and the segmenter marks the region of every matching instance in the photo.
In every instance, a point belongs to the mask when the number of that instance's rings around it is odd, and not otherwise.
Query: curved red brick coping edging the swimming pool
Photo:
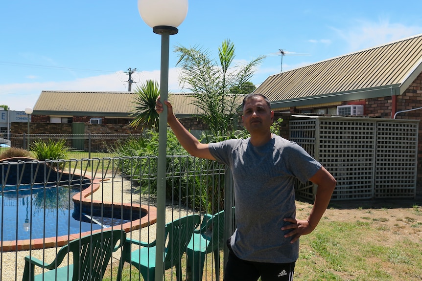
[[[84,175],[85,178],[89,178],[88,176]],[[157,208],[147,205],[139,205],[139,204],[130,204],[130,203],[122,203],[117,204],[113,202],[101,202],[99,200],[92,200],[88,199],[90,195],[92,195],[95,191],[97,191],[101,187],[102,179],[94,179],[92,180],[91,187],[88,187],[73,195],[72,200],[75,203],[80,204],[93,204],[94,206],[101,206],[111,208],[117,207],[122,209],[127,209],[132,211],[140,211],[142,213],[146,213],[145,216],[142,216],[140,219],[136,219],[130,222],[126,222],[120,225],[111,226],[108,228],[93,230],[93,231],[86,231],[81,233],[75,233],[70,235],[64,235],[59,237],[49,237],[49,238],[36,238],[36,239],[24,239],[24,240],[12,240],[12,241],[0,241],[0,248],[3,252],[10,252],[10,251],[23,251],[23,250],[35,250],[35,249],[44,249],[44,248],[53,248],[53,247],[61,247],[66,245],[69,241],[81,238],[83,236],[91,235],[94,233],[98,233],[105,230],[111,229],[122,229],[125,232],[130,232],[133,230],[137,230],[153,223],[157,222]]]

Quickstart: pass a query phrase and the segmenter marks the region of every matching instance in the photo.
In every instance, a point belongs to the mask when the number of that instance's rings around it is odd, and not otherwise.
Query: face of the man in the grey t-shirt
[[[274,120],[274,111],[268,107],[264,98],[256,96],[245,103],[242,120],[251,134],[268,133]]]

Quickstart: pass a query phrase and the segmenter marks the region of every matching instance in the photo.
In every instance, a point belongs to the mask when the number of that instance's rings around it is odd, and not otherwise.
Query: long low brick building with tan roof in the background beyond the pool
[[[135,118],[132,115],[135,97],[133,92],[42,91],[31,116],[31,133],[141,133],[141,127],[128,127]],[[204,124],[195,117],[200,110],[193,104],[193,98],[171,94],[169,99],[176,116],[199,135]],[[12,126],[12,133],[23,132],[26,124]]]

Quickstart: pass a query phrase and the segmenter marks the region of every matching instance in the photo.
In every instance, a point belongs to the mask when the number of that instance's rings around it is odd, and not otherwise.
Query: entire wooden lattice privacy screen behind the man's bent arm
[[[290,120],[290,140],[337,180],[332,200],[415,197],[418,126],[415,120],[319,117]],[[310,182],[296,195],[313,199]]]

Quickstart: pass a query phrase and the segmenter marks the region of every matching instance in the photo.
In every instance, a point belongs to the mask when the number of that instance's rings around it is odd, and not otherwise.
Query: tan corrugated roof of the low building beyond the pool
[[[136,94],[133,92],[88,92],[88,91],[42,91],[34,111],[89,112],[89,113],[131,113]],[[175,114],[197,115],[199,109],[192,104],[188,94],[171,94],[169,98]]]

